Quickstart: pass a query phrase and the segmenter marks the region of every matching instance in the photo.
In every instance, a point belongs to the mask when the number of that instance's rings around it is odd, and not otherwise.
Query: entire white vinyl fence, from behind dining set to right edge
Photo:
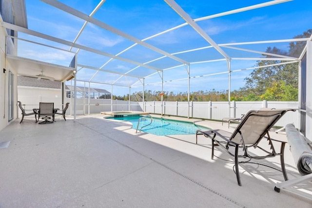
[[[54,92],[55,93],[55,92]],[[36,98],[36,99],[35,99]],[[55,107],[61,109],[60,98],[47,99],[44,97],[20,97],[20,101],[25,105],[26,109],[31,111],[32,108],[38,108],[39,102],[55,102]],[[275,108],[284,109],[292,108],[298,109],[298,102],[277,102],[277,101],[259,101],[259,102],[178,102],[178,101],[151,101],[151,102],[136,102],[110,99],[89,99],[77,98],[76,114],[93,114],[109,111],[144,111],[149,113],[222,120],[224,117],[242,117],[250,110],[257,110],[260,108]],[[67,115],[74,114],[74,99],[67,98],[66,102],[70,103]],[[65,103],[66,103],[65,102]],[[64,104],[65,104],[64,103]],[[20,109],[18,109],[20,110]],[[20,112],[18,113],[20,114]],[[299,127],[299,113],[286,113],[275,125],[285,126],[293,123],[296,128]]]

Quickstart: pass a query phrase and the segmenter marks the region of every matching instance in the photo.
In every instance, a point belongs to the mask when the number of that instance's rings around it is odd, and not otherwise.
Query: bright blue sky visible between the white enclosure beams
[[[74,9],[90,15],[98,5],[99,0],[60,0],[60,2],[73,7]],[[241,7],[267,2],[265,0],[233,1],[224,0],[218,2],[203,0],[176,0],[176,3],[190,15],[192,19],[215,15],[221,12],[231,11]],[[81,29],[84,20],[67,14],[39,0],[26,0],[26,12],[28,29],[34,30],[49,36],[65,39],[73,42]],[[117,30],[138,38],[144,39],[152,35],[166,31],[170,28],[183,24],[185,21],[163,0],[106,0],[93,18],[110,25]],[[277,39],[290,39],[302,34],[308,29],[312,29],[312,4],[310,0],[293,0],[251,11],[245,11],[228,16],[198,21],[197,24],[212,38],[217,44],[264,41]],[[21,38],[31,39],[43,44],[53,45],[65,50],[69,46],[61,45],[42,38],[19,34]],[[190,26],[184,26],[174,31],[168,32],[156,38],[145,41],[165,52],[174,54],[180,51],[192,50],[199,47],[210,46]],[[94,48],[98,51],[117,55],[124,49],[133,45],[127,38],[118,36],[95,24],[88,23],[84,31],[77,40],[78,44]],[[266,51],[267,47],[277,47],[288,51],[289,42],[234,45],[244,49],[255,51]],[[237,51],[229,48],[222,48],[230,57],[261,57],[260,54]],[[77,49],[72,49],[77,52]],[[73,53],[46,48],[40,45],[33,45],[27,42],[19,42],[19,56],[39,59],[42,61],[57,63],[68,66],[73,57]],[[131,50],[122,53],[120,57],[146,63],[153,59],[162,57],[159,53],[137,45]],[[194,51],[184,54],[176,54],[188,62],[194,63],[204,60],[214,60],[224,58],[215,49],[208,48],[201,51]],[[101,67],[110,58],[100,56],[91,52],[80,50],[78,53],[78,63],[90,67]],[[239,70],[253,67],[255,60],[232,60],[231,70]],[[182,67],[168,69],[180,63],[169,58],[162,58],[149,63],[150,66],[164,71],[164,91],[175,93],[187,92],[188,81],[187,71]],[[135,64],[113,60],[107,63],[103,69],[126,73],[133,76],[148,76],[156,71],[139,67]],[[79,70],[79,68],[78,68]],[[191,78],[190,91],[226,90],[228,88],[228,70],[225,61],[209,63],[194,63],[190,66]],[[96,71],[91,69],[81,69],[77,78],[80,80],[90,80]],[[232,73],[231,90],[239,89],[244,85],[244,78],[249,76],[252,70]],[[218,74],[224,73],[224,74]],[[216,75],[218,74],[218,75]],[[198,77],[200,76],[200,77]],[[116,81],[117,80],[117,81]],[[172,81],[176,80],[176,81]],[[103,88],[112,91],[110,83],[117,85],[131,86],[131,93],[142,91],[141,82],[137,82],[136,77],[122,77],[119,75],[99,72],[92,81],[91,87]],[[145,79],[145,90],[161,90],[160,75],[155,74]],[[105,83],[105,84],[99,84]],[[78,83],[82,85],[82,83]],[[128,87],[113,87],[114,95],[125,95],[129,93]]]

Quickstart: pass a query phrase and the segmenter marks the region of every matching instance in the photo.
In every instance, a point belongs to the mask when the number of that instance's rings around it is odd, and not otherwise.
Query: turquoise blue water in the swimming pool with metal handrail
[[[108,119],[114,120],[123,120],[129,121],[132,123],[132,128],[137,129],[137,123],[141,116],[135,117],[112,117]],[[151,123],[150,117],[142,118],[138,127],[138,131],[141,127]],[[183,122],[183,121],[175,121],[161,118],[153,118],[153,122],[151,125],[143,127],[141,132],[152,133],[158,136],[167,136],[167,135],[187,135],[187,134],[195,134],[196,130],[209,130],[207,128],[196,126],[193,123]]]

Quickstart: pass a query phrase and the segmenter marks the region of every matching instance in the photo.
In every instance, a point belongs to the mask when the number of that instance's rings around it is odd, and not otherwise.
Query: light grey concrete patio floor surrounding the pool
[[[136,133],[127,122],[103,117],[46,125],[17,119],[0,131],[0,142],[10,141],[0,149],[0,207],[312,207],[312,198],[275,192],[283,174],[266,166],[240,165],[239,187],[233,163],[211,160],[203,136],[196,145],[195,135]],[[197,124],[226,130],[235,125]],[[285,151],[289,178],[299,177],[288,145]],[[223,151],[215,154],[230,159]],[[280,164],[279,157],[261,163]],[[312,193],[311,182],[300,188]]]

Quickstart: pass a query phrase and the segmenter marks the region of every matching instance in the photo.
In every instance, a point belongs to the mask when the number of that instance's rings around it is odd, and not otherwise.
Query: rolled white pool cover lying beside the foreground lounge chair
[[[312,173],[312,149],[304,136],[297,131],[293,124],[287,124],[285,131],[293,160],[297,164],[300,174]]]

